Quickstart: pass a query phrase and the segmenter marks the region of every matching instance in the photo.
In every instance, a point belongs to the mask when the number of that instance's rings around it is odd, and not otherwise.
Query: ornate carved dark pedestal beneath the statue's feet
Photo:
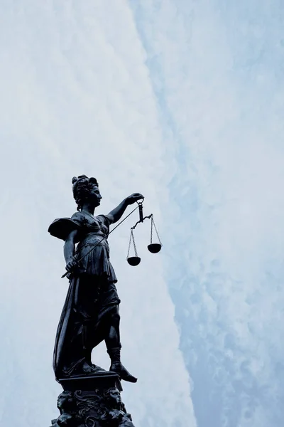
[[[134,427],[121,402],[119,376],[102,371],[92,376],[59,379],[63,391],[58,396],[60,416],[52,427]]]

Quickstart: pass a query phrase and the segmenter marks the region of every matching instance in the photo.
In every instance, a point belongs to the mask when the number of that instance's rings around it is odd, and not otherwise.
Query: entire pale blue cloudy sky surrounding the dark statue
[[[1,383],[4,426],[50,425],[67,292],[55,218],[72,176],[97,213],[145,197],[163,251],[110,237],[123,401],[136,427],[282,427],[284,7],[280,0],[2,0]],[[130,209],[129,209],[130,211]],[[104,345],[93,360],[109,367]]]

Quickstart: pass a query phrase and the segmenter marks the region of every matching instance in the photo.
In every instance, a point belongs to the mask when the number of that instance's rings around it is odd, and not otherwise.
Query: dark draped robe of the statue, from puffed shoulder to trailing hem
[[[68,275],[70,285],[53,354],[57,379],[77,374],[81,364],[90,360],[92,349],[104,339],[111,312],[119,306],[107,242],[110,224],[110,216],[76,212],[71,218],[55,219],[48,228],[52,236],[64,241],[78,230],[75,256],[77,260],[84,257]]]

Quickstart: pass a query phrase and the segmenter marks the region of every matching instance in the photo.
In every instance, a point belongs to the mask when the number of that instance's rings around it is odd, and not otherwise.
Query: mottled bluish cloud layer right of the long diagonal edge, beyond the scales
[[[283,420],[282,8],[131,1],[167,162],[167,280],[197,425]]]

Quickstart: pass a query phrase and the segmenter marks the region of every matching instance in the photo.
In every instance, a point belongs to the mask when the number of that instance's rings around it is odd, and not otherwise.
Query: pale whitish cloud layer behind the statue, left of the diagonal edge
[[[146,53],[126,4],[30,0],[1,9],[2,422],[48,425],[58,412],[51,364],[67,292],[62,244],[48,225],[75,211],[71,179],[84,173],[99,180],[100,212],[141,191],[146,213],[163,227],[168,164]],[[136,426],[195,426],[163,254],[146,252],[146,226],[137,232],[141,266],[125,261],[134,218],[110,238],[124,363],[139,378],[124,385],[124,401]],[[94,359],[108,367],[103,347]]]

